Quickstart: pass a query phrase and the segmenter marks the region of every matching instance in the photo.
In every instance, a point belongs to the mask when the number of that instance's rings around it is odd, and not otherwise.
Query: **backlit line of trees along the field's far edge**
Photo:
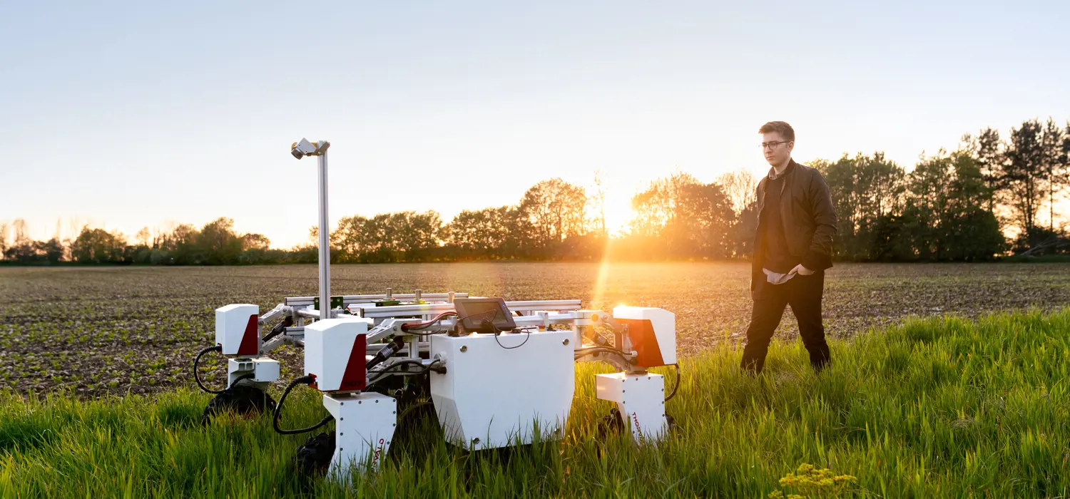
[[[1070,253],[1070,236],[1055,223],[1070,188],[1070,122],[1028,120],[1006,138],[984,128],[964,136],[952,152],[920,156],[910,171],[883,153],[809,166],[821,171],[831,192],[838,261]],[[745,259],[753,251],[758,225],[756,184],[745,170],[713,183],[688,173],[655,180],[632,197],[629,227],[611,235],[599,176],[590,189],[551,178],[529,188],[516,204],[464,210],[449,221],[433,210],[343,217],[331,233],[331,258],[337,263]],[[261,234],[236,233],[229,218],[200,229],[146,228],[134,243],[89,227],[63,240],[32,240],[27,232],[22,220],[0,223],[4,262],[242,265],[315,263],[318,254],[315,228],[309,244],[273,249]]]

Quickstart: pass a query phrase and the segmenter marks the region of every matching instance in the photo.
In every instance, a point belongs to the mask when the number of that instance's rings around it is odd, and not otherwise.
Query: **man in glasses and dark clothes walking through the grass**
[[[795,130],[791,125],[769,122],[758,132],[773,168],[758,183],[759,221],[750,283],[754,308],[740,365],[754,374],[762,372],[769,340],[790,305],[810,364],[821,371],[830,360],[821,297],[825,269],[832,266],[832,199],[817,170],[792,159]]]

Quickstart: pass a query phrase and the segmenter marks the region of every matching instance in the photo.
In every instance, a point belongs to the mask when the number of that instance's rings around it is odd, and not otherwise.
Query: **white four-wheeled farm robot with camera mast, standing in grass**
[[[256,305],[216,309],[216,346],[194,360],[198,386],[217,394],[205,418],[265,407],[282,434],[311,432],[334,420],[335,432],[309,438],[297,459],[307,471],[328,469],[345,479],[377,469],[406,409],[418,405],[432,405],[446,440],[467,450],[561,438],[576,362],[602,361],[620,370],[597,375],[597,397],[615,404],[605,424],[637,442],[668,434],[666,402],[675,388],[667,392],[663,376],[647,369],[676,365],[672,312],[616,307],[607,313],[583,310],[579,299],[505,301],[421,290],[331,296],[327,147],[302,139],[291,149],[299,159],[319,158],[320,294],[286,298],[264,314]],[[613,341],[600,331],[611,331]],[[266,354],[284,344],[304,348],[305,375],[287,386],[276,405],[268,388],[279,377],[279,362]],[[228,358],[223,390],[208,389],[198,376],[201,357],[212,352]],[[676,374],[678,386],[678,367]],[[306,428],[281,428],[286,399],[297,385],[322,392],[330,415]]]

